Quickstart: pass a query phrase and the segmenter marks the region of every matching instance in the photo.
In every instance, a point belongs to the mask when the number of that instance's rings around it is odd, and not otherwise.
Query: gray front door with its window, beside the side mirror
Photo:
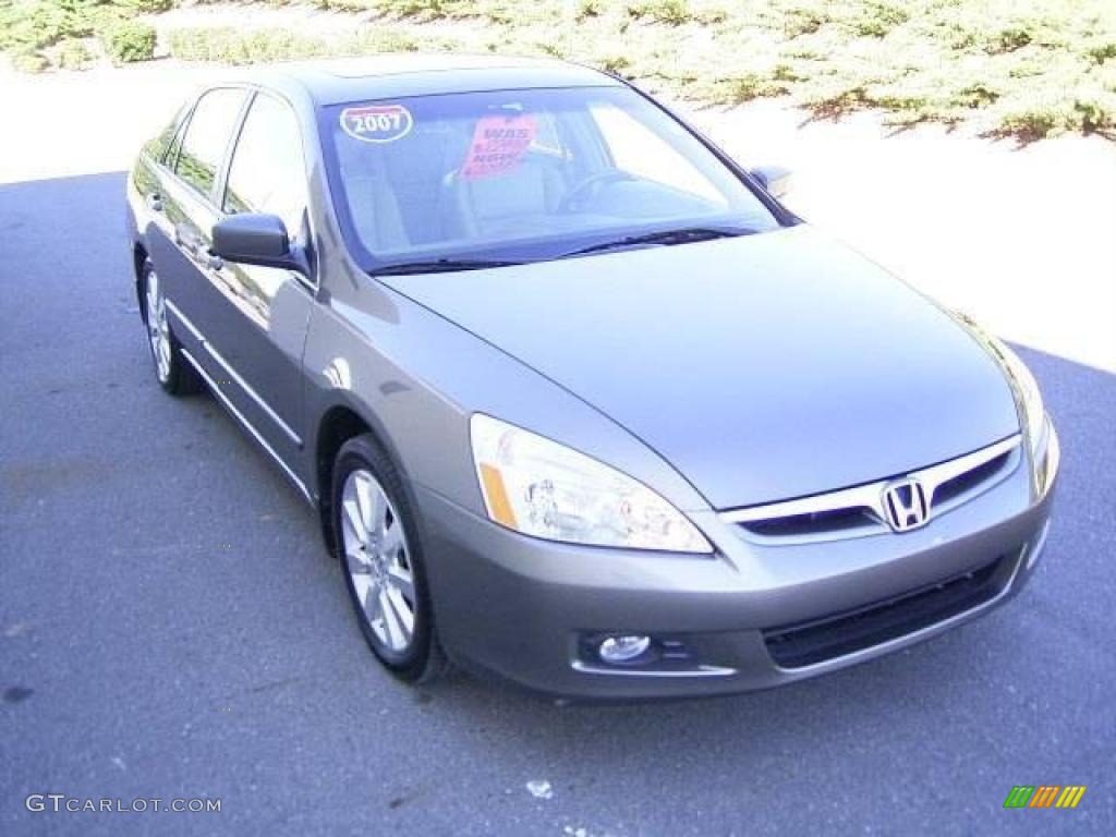
[[[224,214],[278,215],[294,243],[309,244],[302,136],[285,100],[253,95],[219,187]],[[273,452],[294,465],[305,436],[301,359],[315,282],[294,270],[228,261],[209,269],[220,311],[206,340],[228,382],[223,389]]]

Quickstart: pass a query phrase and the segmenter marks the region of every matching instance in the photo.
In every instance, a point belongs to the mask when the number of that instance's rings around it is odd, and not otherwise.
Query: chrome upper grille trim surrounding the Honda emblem
[[[1003,471],[995,478],[992,478],[987,483],[979,485],[974,492],[966,493],[944,503],[934,504],[933,497],[943,483],[949,482],[956,477],[961,477],[969,471],[973,471],[981,465],[993,461],[998,456],[1003,455],[1004,453],[1011,453],[1019,450],[1021,442],[1022,434],[1016,433],[1014,435],[1008,436],[1007,439],[995,442],[994,444],[982,448],[979,451],[973,451],[964,456],[959,456],[958,459],[941,462],[936,465],[923,468],[918,471],[899,474],[886,480],[869,482],[865,485],[855,485],[853,488],[840,489],[838,491],[830,491],[824,494],[812,494],[811,497],[802,497],[796,500],[783,500],[776,503],[750,506],[743,509],[732,509],[721,512],[720,518],[727,523],[741,525],[763,520],[778,520],[780,518],[797,517],[799,514],[843,511],[846,509],[863,509],[879,523],[878,528],[867,526],[845,531],[822,532],[820,535],[791,535],[780,537],[749,533],[750,538],[762,540],[767,543],[800,543],[816,540],[836,540],[839,538],[863,537],[864,535],[872,535],[878,531],[891,531],[891,528],[886,522],[887,516],[884,509],[884,490],[895,479],[907,478],[918,480],[925,487],[926,496],[931,499],[931,508],[926,517],[926,521],[930,522],[940,514],[944,514],[945,512],[955,509],[958,506],[968,502],[978,494],[983,493],[999,483],[1009,473],[1014,471],[1016,468],[1018,468],[1019,458],[1017,456],[1014,462],[1012,462],[1010,466],[1004,468]]]

